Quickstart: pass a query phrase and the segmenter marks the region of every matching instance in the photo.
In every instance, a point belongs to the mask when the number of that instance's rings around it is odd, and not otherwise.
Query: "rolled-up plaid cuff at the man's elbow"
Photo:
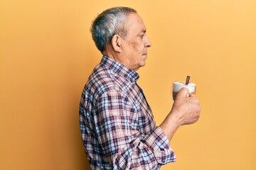
[[[159,164],[176,162],[176,156],[171,149],[170,142],[161,128],[156,127],[144,138],[145,144],[154,152],[154,157]]]

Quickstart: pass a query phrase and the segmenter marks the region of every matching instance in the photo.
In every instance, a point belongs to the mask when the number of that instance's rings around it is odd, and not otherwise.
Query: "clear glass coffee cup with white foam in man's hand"
[[[174,81],[173,90],[172,90],[172,96],[173,96],[174,101],[178,94],[178,91],[180,91],[183,87],[188,89],[190,94],[196,94],[196,84],[194,84],[194,83],[185,84],[181,81]]]

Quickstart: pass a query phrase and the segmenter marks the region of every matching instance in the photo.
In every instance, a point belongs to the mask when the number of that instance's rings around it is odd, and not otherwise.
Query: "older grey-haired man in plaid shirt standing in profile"
[[[181,89],[161,125],[154,116],[136,72],[146,64],[151,42],[137,11],[109,8],[91,28],[102,53],[80,101],[80,130],[92,169],[160,169],[175,162],[169,142],[181,125],[195,123],[198,99]]]

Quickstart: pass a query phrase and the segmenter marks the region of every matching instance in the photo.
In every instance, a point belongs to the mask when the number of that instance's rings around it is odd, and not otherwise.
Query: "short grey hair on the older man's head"
[[[137,13],[137,11],[129,7],[114,7],[108,8],[95,18],[90,31],[100,52],[106,50],[107,42],[110,42],[114,35],[125,38],[127,29],[124,25],[130,13]]]

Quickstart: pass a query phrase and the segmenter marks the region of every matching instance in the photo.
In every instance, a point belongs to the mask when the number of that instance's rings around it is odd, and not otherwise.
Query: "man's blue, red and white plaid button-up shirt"
[[[160,169],[176,161],[137,79],[137,72],[106,56],[88,79],[80,130],[92,169]]]

